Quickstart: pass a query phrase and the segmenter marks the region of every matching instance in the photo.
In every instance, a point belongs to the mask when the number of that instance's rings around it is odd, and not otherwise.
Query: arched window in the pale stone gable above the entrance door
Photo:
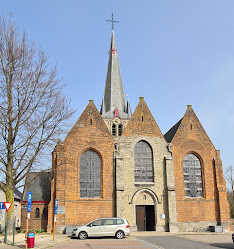
[[[145,141],[139,141],[134,148],[135,182],[153,182],[153,151]]]

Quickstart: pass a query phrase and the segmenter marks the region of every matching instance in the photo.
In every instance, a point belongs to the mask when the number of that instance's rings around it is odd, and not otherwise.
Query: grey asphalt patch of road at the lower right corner
[[[234,243],[227,242],[212,242],[209,243],[193,241],[186,238],[180,238],[177,236],[148,236],[138,237],[141,240],[149,242],[151,244],[160,246],[164,249],[221,249],[221,248],[234,248]]]

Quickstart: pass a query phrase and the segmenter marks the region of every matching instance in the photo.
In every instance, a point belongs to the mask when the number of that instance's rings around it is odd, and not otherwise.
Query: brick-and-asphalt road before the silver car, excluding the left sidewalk
[[[186,237],[186,238],[185,238]],[[193,239],[193,240],[192,240]],[[196,241],[199,240],[199,241]],[[73,239],[55,249],[234,249],[229,235],[220,236],[139,236],[122,240],[113,238]]]

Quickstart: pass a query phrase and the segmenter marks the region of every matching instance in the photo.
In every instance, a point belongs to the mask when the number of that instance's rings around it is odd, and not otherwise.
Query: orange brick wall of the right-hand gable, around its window
[[[178,222],[229,222],[229,206],[221,159],[191,106],[172,140]],[[188,198],[184,191],[183,159],[195,154],[201,162],[203,198]],[[219,170],[218,170],[219,165]],[[221,169],[220,169],[221,168]],[[218,172],[216,172],[218,170]],[[218,185],[217,185],[218,178]],[[218,187],[217,187],[218,186]],[[222,194],[220,193],[222,190]],[[220,201],[222,198],[222,201]],[[220,210],[223,210],[222,217]],[[226,225],[225,225],[226,226]],[[227,227],[227,226],[226,226]]]

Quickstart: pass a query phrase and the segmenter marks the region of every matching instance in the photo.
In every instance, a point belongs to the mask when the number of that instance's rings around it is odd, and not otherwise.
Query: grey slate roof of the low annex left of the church
[[[29,172],[23,194],[27,201],[28,192],[32,193],[32,201],[50,201],[52,172]]]

